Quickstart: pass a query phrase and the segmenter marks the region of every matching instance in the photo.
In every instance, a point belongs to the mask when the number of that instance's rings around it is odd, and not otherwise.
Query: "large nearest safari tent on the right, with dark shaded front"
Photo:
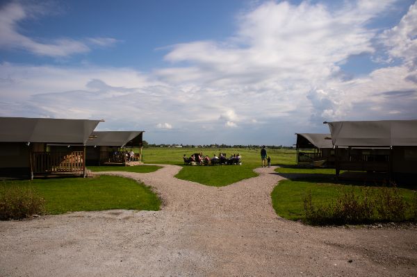
[[[341,170],[417,174],[417,120],[334,121],[336,176]],[[342,147],[345,147],[343,149]]]

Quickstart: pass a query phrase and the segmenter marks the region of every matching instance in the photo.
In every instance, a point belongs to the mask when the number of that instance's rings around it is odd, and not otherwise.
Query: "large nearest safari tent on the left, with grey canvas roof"
[[[0,175],[85,176],[85,144],[99,122],[0,117]]]

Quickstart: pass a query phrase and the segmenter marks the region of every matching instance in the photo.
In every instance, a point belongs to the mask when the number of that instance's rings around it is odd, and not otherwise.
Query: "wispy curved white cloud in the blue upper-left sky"
[[[33,54],[49,57],[65,57],[76,53],[90,51],[89,44],[101,47],[110,46],[117,40],[110,37],[92,37],[85,39],[85,42],[70,38],[56,38],[49,42],[40,42],[27,35],[19,33],[19,22],[24,19],[32,19],[44,15],[48,7],[40,5],[22,5],[17,1],[3,6],[0,10],[0,48],[24,49]]]

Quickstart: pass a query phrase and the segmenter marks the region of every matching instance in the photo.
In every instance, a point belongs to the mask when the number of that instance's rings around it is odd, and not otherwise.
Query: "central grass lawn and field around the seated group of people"
[[[146,148],[142,151],[142,160],[146,163],[180,165],[183,167],[177,178],[182,180],[194,181],[203,185],[216,187],[230,185],[246,178],[257,176],[253,169],[261,166],[261,149],[237,149],[237,148]],[[271,156],[272,165],[278,162],[284,165],[291,165],[295,162],[295,150],[293,149],[267,149]],[[137,152],[137,151],[136,151]],[[228,166],[189,166],[183,165],[183,154],[187,157],[193,153],[203,153],[213,157],[216,153],[226,153],[231,156],[240,153],[243,165]]]

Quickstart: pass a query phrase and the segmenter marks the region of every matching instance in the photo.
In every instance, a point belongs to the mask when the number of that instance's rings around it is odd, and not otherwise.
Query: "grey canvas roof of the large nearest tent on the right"
[[[417,120],[325,123],[334,146],[417,146]]]

